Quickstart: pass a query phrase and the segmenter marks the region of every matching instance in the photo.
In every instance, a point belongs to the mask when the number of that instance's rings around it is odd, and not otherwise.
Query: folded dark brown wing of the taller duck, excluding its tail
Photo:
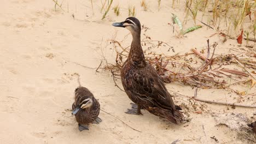
[[[132,88],[141,98],[152,101],[162,109],[176,110],[170,93],[153,67],[146,67],[133,73]]]

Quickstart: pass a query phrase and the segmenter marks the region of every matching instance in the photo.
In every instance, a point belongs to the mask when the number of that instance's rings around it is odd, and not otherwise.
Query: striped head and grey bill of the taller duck
[[[135,17],[128,17],[123,22],[114,22],[112,26],[125,27],[131,32],[132,35],[141,34],[141,23]]]

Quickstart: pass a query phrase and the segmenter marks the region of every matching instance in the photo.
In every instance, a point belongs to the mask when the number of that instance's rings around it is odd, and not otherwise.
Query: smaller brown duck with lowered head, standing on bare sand
[[[100,103],[94,98],[94,95],[85,87],[78,87],[75,89],[74,103],[72,105],[72,115],[78,122],[80,131],[89,130],[89,123],[100,123],[101,118],[98,117],[100,113]]]

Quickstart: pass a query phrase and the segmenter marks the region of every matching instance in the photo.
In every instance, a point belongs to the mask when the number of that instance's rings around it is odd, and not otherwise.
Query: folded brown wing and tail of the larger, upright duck
[[[138,104],[144,104],[146,109],[161,117],[169,119],[173,123],[179,123],[182,121],[182,113],[176,109],[176,105],[168,93],[164,82],[158,75],[156,70],[150,65],[144,69],[134,70],[130,77],[127,78],[128,86],[127,90],[137,98]],[[144,101],[150,101],[154,104],[153,108],[150,105],[144,103]],[[151,108],[148,109],[150,106]]]

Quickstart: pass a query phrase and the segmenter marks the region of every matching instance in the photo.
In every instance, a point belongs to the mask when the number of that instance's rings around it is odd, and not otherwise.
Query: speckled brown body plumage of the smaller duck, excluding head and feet
[[[94,98],[94,95],[85,87],[78,87],[75,89],[74,103],[72,110],[75,109],[85,99],[92,99],[92,105],[86,109],[79,110],[75,114],[75,119],[79,124],[89,124],[96,120],[100,113],[100,103]]]

